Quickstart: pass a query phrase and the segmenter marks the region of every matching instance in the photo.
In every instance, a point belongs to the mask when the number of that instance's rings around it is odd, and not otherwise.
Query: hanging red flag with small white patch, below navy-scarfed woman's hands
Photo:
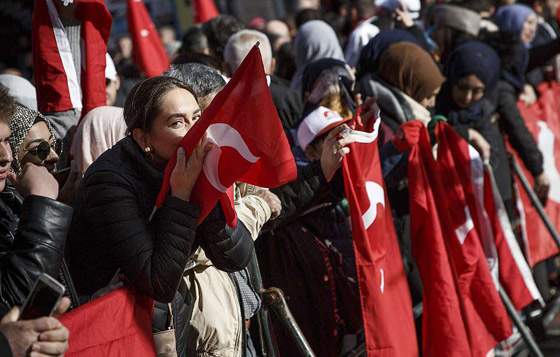
[[[463,150],[468,150],[468,144],[445,122],[437,123],[436,136],[437,167],[440,172],[433,172],[437,186],[435,198],[459,283],[471,352],[475,356],[486,355],[499,342],[511,336],[512,322],[498,294],[498,285],[490,274],[481,239],[475,229],[475,224],[480,228],[488,222],[483,222],[484,215],[478,216],[481,209],[474,202],[477,198],[474,197],[472,185],[467,194],[471,196],[473,207],[467,204],[459,178],[463,176],[463,182],[468,186],[468,180],[472,178],[472,172],[467,176],[468,170],[474,166],[467,162],[467,169],[465,162],[456,162],[451,149],[454,147],[457,151],[460,150],[458,146],[463,146]],[[488,240],[487,244],[495,251],[492,237],[488,237]],[[497,254],[494,257],[490,262],[493,266],[497,264]]]

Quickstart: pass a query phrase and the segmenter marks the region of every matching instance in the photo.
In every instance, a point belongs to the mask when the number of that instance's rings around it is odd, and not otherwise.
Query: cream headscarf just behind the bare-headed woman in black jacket
[[[74,135],[70,153],[78,171],[86,172],[101,154],[125,137],[123,109],[97,107],[86,114]]]

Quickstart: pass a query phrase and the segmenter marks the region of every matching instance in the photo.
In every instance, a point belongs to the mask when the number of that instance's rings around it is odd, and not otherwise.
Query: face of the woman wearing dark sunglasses
[[[46,141],[51,146],[49,156],[45,160],[41,160],[37,155],[34,155],[36,149],[43,141]],[[55,138],[49,131],[49,127],[44,121],[33,124],[27,136],[23,139],[19,147],[18,160],[23,167],[26,163],[30,162],[34,165],[45,166],[49,172],[56,170],[56,164],[60,157],[52,149],[54,147]]]

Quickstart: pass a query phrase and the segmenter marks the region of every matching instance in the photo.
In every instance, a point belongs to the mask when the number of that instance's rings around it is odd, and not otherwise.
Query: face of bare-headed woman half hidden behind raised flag
[[[152,150],[154,164],[164,165],[171,159],[200,113],[196,99],[186,89],[175,88],[164,95],[161,112],[145,136],[145,145]]]

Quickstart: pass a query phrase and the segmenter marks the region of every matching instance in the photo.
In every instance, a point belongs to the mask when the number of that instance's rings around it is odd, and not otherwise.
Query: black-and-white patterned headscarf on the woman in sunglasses
[[[29,134],[31,127],[35,123],[43,121],[47,124],[51,135],[55,135],[52,130],[51,123],[41,113],[27,109],[21,105],[16,105],[16,107],[16,112],[8,120],[8,126],[12,131],[12,136],[10,137],[10,146],[12,147],[12,155],[14,156],[14,160],[12,161],[12,171],[18,176],[21,176],[21,164],[18,160],[19,148],[23,143],[23,139],[25,139],[27,134]]]

